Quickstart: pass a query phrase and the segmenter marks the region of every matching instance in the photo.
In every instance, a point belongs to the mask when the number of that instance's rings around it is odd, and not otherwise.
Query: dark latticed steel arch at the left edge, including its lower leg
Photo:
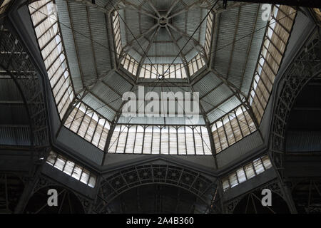
[[[30,125],[29,172],[22,175],[24,191],[21,193],[15,212],[22,212],[28,201],[31,186],[37,180],[40,167],[49,152],[49,125],[44,95],[44,81],[39,75],[34,62],[29,56],[21,39],[10,30],[0,25],[0,68],[16,84],[26,107]],[[10,147],[9,147],[10,148]],[[19,149],[19,147],[18,147]]]

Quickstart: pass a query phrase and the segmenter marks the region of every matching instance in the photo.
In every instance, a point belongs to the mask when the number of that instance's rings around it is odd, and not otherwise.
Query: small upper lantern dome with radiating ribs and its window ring
[[[186,5],[188,4],[188,5]],[[113,34],[121,64],[138,63],[141,78],[187,78],[197,56],[197,67],[205,65],[205,30],[208,6],[200,1],[120,1],[113,11]],[[212,14],[211,14],[212,15]],[[210,18],[209,18],[210,19]],[[213,17],[211,17],[213,20]],[[200,23],[203,21],[203,23]],[[208,33],[210,39],[210,33]],[[193,68],[193,66],[192,66]],[[151,73],[148,73],[151,71]]]

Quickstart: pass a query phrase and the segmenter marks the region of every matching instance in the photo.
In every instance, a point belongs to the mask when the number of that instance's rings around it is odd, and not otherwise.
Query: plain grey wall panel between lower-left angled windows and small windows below
[[[71,151],[78,152],[88,160],[101,165],[101,161],[103,160],[103,151],[91,145],[90,142],[83,140],[83,138],[71,132],[71,130],[61,128],[57,141],[63,143],[63,145],[68,145],[68,147],[71,147]]]

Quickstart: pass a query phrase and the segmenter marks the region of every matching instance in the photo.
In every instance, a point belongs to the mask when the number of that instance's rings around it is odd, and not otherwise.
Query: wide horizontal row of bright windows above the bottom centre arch
[[[147,139],[146,136],[149,138]],[[116,125],[107,152],[145,155],[212,155],[209,137],[204,125]]]

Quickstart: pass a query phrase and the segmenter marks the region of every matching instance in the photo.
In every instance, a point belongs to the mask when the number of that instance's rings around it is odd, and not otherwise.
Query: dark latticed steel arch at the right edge
[[[282,81],[277,86],[277,100],[270,133],[270,157],[280,177],[284,178],[285,132],[290,111],[297,95],[314,77],[321,73],[320,28],[316,28],[305,45],[290,63]]]

